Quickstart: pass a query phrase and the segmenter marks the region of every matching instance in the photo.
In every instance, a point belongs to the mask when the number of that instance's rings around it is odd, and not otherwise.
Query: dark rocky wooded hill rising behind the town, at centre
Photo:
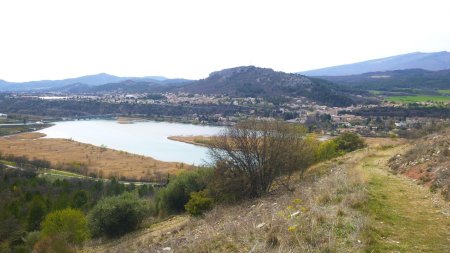
[[[346,106],[355,102],[352,95],[341,90],[338,85],[324,80],[254,66],[213,72],[208,78],[177,88],[176,91],[231,97],[299,96],[332,106]]]

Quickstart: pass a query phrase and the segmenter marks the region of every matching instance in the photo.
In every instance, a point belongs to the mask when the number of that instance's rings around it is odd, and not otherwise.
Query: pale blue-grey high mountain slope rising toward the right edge
[[[424,69],[438,71],[450,69],[450,53],[409,53],[386,58],[368,60],[352,64],[333,66],[299,72],[306,76],[346,76],[368,72],[392,71],[404,69]]]

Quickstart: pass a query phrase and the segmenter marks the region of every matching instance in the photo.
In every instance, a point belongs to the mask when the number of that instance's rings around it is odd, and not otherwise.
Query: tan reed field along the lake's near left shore
[[[23,133],[0,138],[0,152],[45,159],[60,169],[78,169],[82,174],[102,178],[154,181],[189,168],[123,151],[97,147],[67,139],[51,139],[40,133]]]

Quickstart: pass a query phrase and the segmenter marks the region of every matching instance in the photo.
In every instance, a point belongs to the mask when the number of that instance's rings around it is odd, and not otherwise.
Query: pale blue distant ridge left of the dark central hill
[[[72,86],[72,85],[80,86],[83,84],[86,86],[97,86],[108,83],[119,83],[127,80],[132,80],[136,82],[148,82],[154,84],[183,83],[189,81],[186,79],[168,79],[161,76],[119,77],[109,75],[106,73],[100,73],[96,75],[87,75],[62,80],[42,80],[42,81],[30,81],[22,83],[7,82],[4,80],[0,80],[0,91],[45,91],[45,90],[55,90],[58,88],[63,88],[65,86]]]

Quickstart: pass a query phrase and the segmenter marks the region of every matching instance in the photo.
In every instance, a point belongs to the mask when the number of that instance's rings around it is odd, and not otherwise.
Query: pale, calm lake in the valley
[[[150,156],[166,162],[202,165],[208,160],[207,148],[172,141],[175,135],[215,135],[221,127],[168,122],[119,124],[115,120],[79,120],[56,122],[38,132],[46,138],[65,138],[129,153]]]

